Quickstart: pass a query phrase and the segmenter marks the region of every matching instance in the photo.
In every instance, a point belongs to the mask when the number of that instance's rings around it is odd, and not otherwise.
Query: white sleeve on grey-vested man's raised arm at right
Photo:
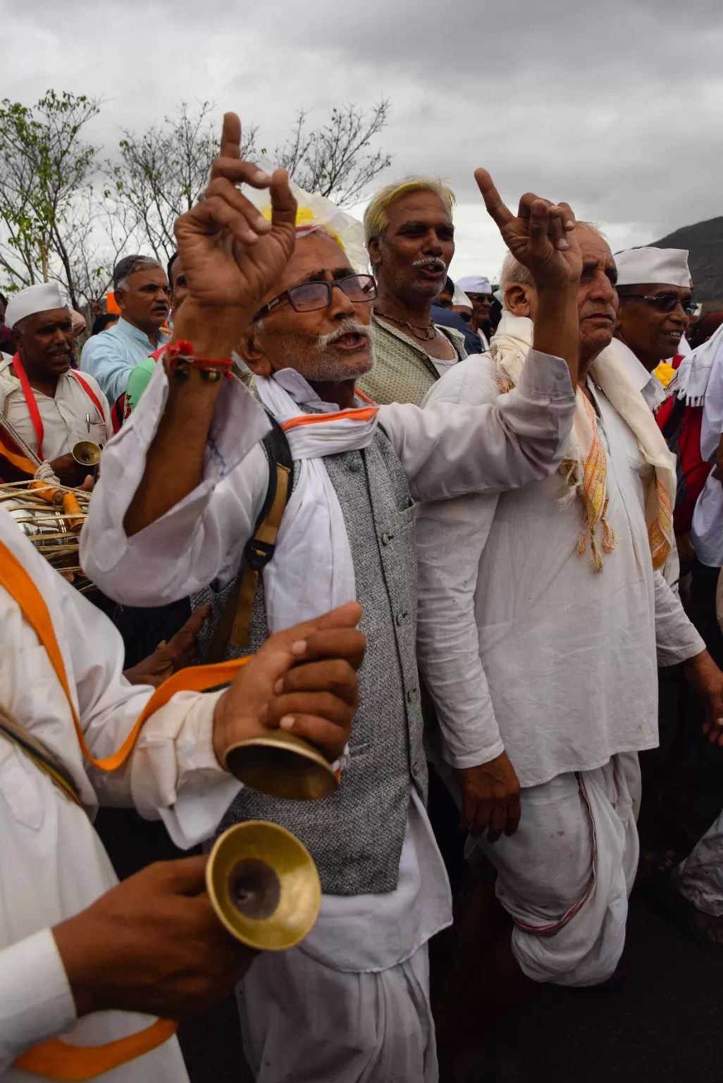
[[[503,493],[547,478],[563,457],[573,428],[575,393],[560,357],[530,350],[517,387],[475,405],[457,389],[484,365],[478,355],[452,366],[424,409],[381,406],[379,420],[409,480],[415,499]],[[448,389],[455,402],[447,400]]]

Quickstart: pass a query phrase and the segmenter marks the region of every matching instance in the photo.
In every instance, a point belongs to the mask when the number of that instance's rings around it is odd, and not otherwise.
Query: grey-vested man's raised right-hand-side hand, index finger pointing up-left
[[[486,169],[474,179],[490,218],[512,255],[533,275],[537,289],[577,286],[582,273],[580,246],[575,236],[575,214],[567,204],[552,204],[528,192],[517,216],[502,203]]]

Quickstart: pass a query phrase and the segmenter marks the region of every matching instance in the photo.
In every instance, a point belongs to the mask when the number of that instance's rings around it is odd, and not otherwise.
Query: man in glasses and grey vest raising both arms
[[[241,161],[239,141],[238,118],[227,114],[206,199],[176,223],[190,293],[163,363],[105,453],[83,566],[131,604],[213,584],[210,638],[218,647],[231,599],[233,630],[221,636],[231,655],[331,600],[362,602],[362,707],[338,792],[315,804],[245,793],[226,817],[294,831],[324,889],[303,948],[259,960],[242,983],[245,1048],[263,1083],[293,1079],[300,1065],[325,1083],[431,1083],[428,941],[451,912],[424,809],[415,500],[498,493],[555,468],[577,376],[574,218],[566,206],[526,196],[505,226],[541,297],[514,391],[461,414],[378,408],[355,394],[356,378],[373,364],[373,279],[355,273],[307,213],[297,230],[286,173],[270,178]],[[271,221],[240,195],[239,182],[270,188]],[[479,185],[495,207],[484,171]],[[239,381],[203,378],[227,368],[234,350],[253,369],[267,413]],[[247,454],[250,439],[265,436],[268,414],[293,464],[292,479],[284,468],[290,498],[275,549],[267,540],[247,547],[278,470],[270,471],[261,443]],[[234,619],[248,600],[246,569],[258,569],[270,547],[250,621]]]

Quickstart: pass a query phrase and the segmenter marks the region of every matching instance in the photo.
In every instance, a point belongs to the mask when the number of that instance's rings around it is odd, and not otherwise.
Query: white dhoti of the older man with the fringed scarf
[[[637,867],[637,754],[522,791],[517,832],[476,839],[497,869],[497,897],[514,918],[512,949],[534,981],[595,986],[625,945]]]

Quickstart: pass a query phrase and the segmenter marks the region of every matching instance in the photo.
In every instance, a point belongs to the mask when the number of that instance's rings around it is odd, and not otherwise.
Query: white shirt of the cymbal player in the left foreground
[[[91,753],[114,753],[153,689],[121,675],[123,647],[110,621],[35,551],[0,510],[0,537],[24,564],[50,610]],[[0,688],[3,706],[70,771],[87,811],[57,790],[13,743],[0,736],[0,1080],[40,1077],[10,1065],[49,1038],[104,1044],[154,1020],[103,1012],[76,1018],[52,926],[84,910],[116,883],[93,830],[103,804],[133,805],[165,821],[176,845],[215,830],[239,783],[212,747],[218,694],[179,692],[150,716],[130,765],[104,774],[83,759],[73,716],[50,658],[18,605],[0,588]],[[175,1039],[103,1077],[108,1083],[183,1083]]]

